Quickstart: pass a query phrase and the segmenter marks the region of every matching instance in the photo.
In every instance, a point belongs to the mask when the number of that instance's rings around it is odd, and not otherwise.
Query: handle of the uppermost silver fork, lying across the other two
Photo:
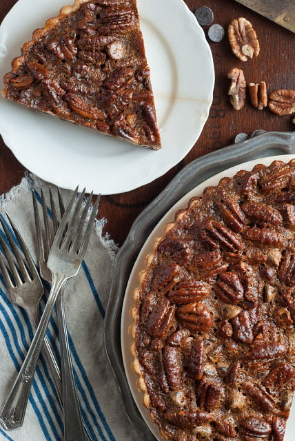
[[[26,358],[23,361],[23,365],[21,366],[17,380],[15,380],[8,395],[8,399],[1,410],[0,421],[3,424],[3,427],[8,430],[17,429],[17,427],[21,427],[23,424],[23,418],[26,413],[32,380],[34,378],[34,371],[36,369],[39,354],[43,346],[46,329],[48,327],[54,303],[57,300],[59,291],[65,284],[66,280],[67,278],[65,277],[53,277],[50,294],[37,327],[36,334],[34,335]]]

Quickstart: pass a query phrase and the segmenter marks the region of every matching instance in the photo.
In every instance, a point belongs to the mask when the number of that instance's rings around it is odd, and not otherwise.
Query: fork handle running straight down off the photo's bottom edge
[[[63,378],[63,413],[65,418],[64,441],[85,441],[65,321],[63,287],[57,298],[57,318],[61,340],[61,377]]]

